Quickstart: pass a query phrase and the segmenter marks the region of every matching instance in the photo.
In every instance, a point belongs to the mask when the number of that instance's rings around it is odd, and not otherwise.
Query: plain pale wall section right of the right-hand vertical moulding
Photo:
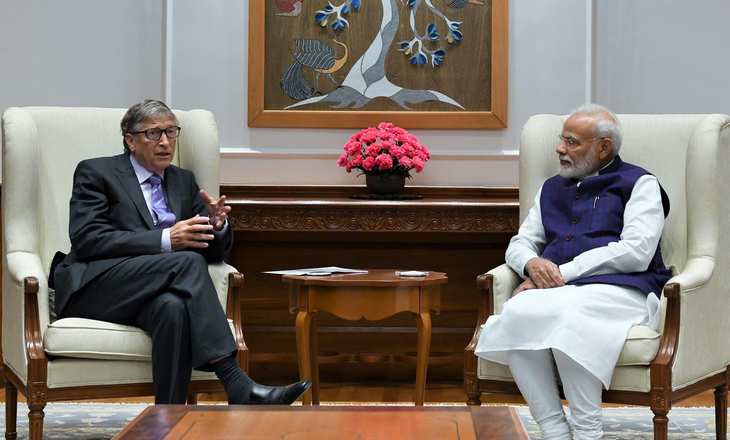
[[[730,1],[596,3],[598,102],[616,113],[730,113]]]

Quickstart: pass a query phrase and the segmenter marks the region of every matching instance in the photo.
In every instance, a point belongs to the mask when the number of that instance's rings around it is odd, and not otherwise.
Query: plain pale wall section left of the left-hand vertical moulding
[[[0,0],[0,110],[163,98],[164,15],[151,0]]]

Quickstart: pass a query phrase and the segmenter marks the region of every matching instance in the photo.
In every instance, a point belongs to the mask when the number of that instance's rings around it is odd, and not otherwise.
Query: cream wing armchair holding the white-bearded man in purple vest
[[[520,223],[537,189],[558,173],[557,135],[567,116],[537,115],[520,140]],[[730,116],[618,115],[621,158],[652,172],[669,195],[661,236],[673,277],[664,287],[658,333],[635,326],[613,373],[604,402],[650,406],[654,438],[666,439],[672,405],[715,389],[717,438],[726,438],[730,363]],[[474,354],[488,316],[522,279],[507,265],[477,278],[479,321],[465,349],[464,392],[471,405],[483,393],[519,394],[507,365]]]

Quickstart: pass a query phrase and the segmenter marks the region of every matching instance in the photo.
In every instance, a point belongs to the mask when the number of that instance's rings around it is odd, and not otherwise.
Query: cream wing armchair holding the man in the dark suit
[[[28,399],[30,436],[40,439],[46,402],[153,395],[151,340],[137,327],[91,319],[50,322],[47,271],[55,251],[68,252],[69,199],[82,159],[123,151],[126,110],[11,107],[2,115],[2,354],[6,433],[15,431],[18,390]],[[178,111],[183,127],[173,164],[195,173],[218,197],[218,125],[205,110]],[[247,370],[239,289],[243,276],[209,265],[221,306]],[[214,373],[193,371],[196,393],[223,390]]]

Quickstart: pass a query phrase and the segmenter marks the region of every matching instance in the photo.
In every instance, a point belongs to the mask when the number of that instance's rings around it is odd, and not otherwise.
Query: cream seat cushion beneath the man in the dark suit
[[[228,319],[233,333],[233,321]],[[152,339],[138,327],[85,318],[58,319],[43,335],[47,354],[104,360],[152,360]]]

